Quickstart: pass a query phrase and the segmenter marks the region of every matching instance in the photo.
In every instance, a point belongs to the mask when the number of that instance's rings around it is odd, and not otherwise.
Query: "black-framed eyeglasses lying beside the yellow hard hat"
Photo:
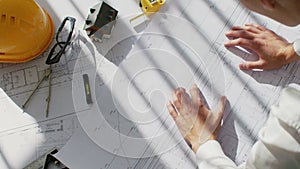
[[[71,27],[69,35],[68,35],[67,39],[65,39],[65,40],[59,40],[59,34],[63,30],[63,28],[66,25],[67,21],[70,22],[70,27]],[[72,37],[72,34],[73,34],[73,30],[74,30],[74,26],[75,26],[75,21],[76,21],[75,18],[68,16],[60,24],[60,26],[59,26],[59,28],[57,30],[57,33],[56,33],[56,37],[55,37],[56,44],[51,48],[50,53],[49,53],[49,55],[47,57],[47,60],[46,60],[46,64],[47,65],[52,65],[54,63],[59,62],[59,60],[60,60],[62,54],[64,54],[67,46],[71,43],[70,41],[71,41],[71,37]]]

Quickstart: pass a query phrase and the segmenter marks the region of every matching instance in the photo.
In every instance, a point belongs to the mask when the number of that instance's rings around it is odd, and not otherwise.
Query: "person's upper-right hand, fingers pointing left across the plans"
[[[241,46],[251,49],[258,55],[254,62],[246,61],[239,65],[240,69],[279,69],[298,60],[293,44],[275,32],[255,24],[234,26],[225,34],[229,40],[225,47]]]

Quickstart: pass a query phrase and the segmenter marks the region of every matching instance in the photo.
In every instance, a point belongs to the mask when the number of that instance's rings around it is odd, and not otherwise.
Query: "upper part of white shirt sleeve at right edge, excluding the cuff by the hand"
[[[272,107],[259,141],[248,157],[248,168],[300,168],[300,92],[284,89]]]

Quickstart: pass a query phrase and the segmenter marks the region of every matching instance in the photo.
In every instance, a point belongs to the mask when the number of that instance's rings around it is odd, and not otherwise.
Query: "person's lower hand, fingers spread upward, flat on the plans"
[[[196,85],[191,87],[190,94],[191,96],[184,88],[175,89],[173,103],[169,101],[167,108],[181,135],[196,153],[207,140],[216,140],[226,98],[221,97],[217,108],[212,112]]]

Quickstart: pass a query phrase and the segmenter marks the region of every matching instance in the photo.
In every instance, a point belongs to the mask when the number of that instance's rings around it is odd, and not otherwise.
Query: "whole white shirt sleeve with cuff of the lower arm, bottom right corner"
[[[198,167],[204,169],[300,169],[300,90],[282,91],[245,164],[237,167],[217,141],[201,145],[196,157]]]

